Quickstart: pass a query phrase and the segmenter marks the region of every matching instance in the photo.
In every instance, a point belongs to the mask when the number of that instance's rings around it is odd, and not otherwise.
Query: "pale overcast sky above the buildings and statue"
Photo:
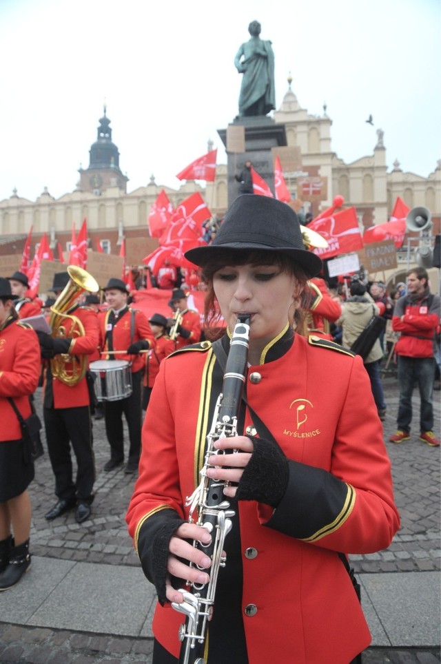
[[[128,191],[178,187],[237,114],[234,56],[260,21],[276,60],[276,107],[323,103],[346,163],[372,154],[427,177],[441,158],[440,0],[0,0],[0,200],[74,190],[107,103]],[[372,114],[374,126],[365,120]]]

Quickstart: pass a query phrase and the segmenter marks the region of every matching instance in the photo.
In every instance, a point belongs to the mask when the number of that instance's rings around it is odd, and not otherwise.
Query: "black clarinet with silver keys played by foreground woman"
[[[183,601],[172,602],[172,607],[186,616],[185,623],[178,632],[178,638],[182,641],[179,664],[205,664],[207,623],[212,618],[218,572],[226,563],[223,547],[225,537],[232,529],[231,517],[234,517],[236,512],[230,509],[229,502],[223,499],[223,488],[227,483],[207,477],[207,469],[211,467],[208,464],[210,456],[223,454],[222,450],[214,448],[214,442],[219,438],[237,435],[238,411],[247,367],[249,320],[248,313],[238,315],[225,366],[222,392],[218,396],[212,428],[207,435],[204,465],[200,473],[201,482],[185,501],[185,506],[190,506],[189,523],[194,523],[193,514],[196,510],[197,525],[206,528],[212,536],[207,545],[193,541],[194,547],[203,548],[212,560],[212,565],[208,583],[188,583],[193,592],[181,589]],[[190,563],[190,566],[194,566],[194,563]]]

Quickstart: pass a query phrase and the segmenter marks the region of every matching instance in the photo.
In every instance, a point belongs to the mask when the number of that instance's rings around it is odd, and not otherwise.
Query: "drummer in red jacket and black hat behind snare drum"
[[[121,279],[111,278],[103,288],[107,311],[99,313],[100,348],[106,360],[131,362],[132,394],[104,404],[105,431],[110,444],[110,459],[104,470],[113,470],[124,461],[123,414],[129,429],[130,447],[125,473],[138,470],[141,450],[141,378],[144,358],[140,351],[153,349],[154,335],[142,311],[127,306],[127,289]],[[114,351],[125,351],[114,354]]]

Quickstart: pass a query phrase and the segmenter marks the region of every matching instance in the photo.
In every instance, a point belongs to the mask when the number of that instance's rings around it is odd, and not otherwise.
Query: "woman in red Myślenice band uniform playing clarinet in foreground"
[[[227,333],[220,347],[204,341],[163,360],[145,415],[126,520],[158,594],[153,662],[178,661],[183,615],[169,603],[183,602],[187,581],[206,584],[218,571],[207,664],[348,664],[371,636],[347,554],[386,548],[399,526],[369,377],[351,351],[293,331],[321,261],[285,203],[239,196],[212,245],[185,256],[203,269],[207,322],[221,313]],[[220,348],[231,352],[239,313],[251,317],[245,398],[238,435],[215,444],[236,453],[205,461],[223,386]],[[188,521],[202,466],[227,482],[219,490],[235,512],[226,566],[213,572],[192,544],[209,546],[210,534]]]

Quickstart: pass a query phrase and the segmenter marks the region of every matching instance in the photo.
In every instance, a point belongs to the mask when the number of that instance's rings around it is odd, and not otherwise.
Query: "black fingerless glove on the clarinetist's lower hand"
[[[167,511],[167,510],[166,510]],[[186,523],[184,519],[179,519],[176,512],[163,523],[153,537],[150,532],[148,523],[143,523],[139,530],[138,536],[138,555],[141,561],[141,568],[145,577],[154,584],[156,594],[158,595],[158,602],[163,606],[167,601],[165,596],[165,579],[167,579],[167,559],[169,557],[169,543],[170,539],[179,526]],[[172,577],[172,583],[173,583]],[[182,579],[176,579],[176,588],[183,585]],[[173,583],[175,587],[175,584]]]

